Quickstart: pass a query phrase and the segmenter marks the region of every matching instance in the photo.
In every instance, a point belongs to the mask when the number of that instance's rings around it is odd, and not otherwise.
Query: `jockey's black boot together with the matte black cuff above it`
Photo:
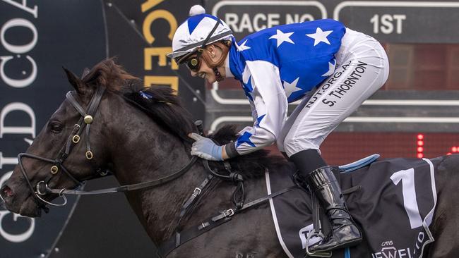
[[[326,252],[357,245],[362,241],[362,233],[347,211],[332,167],[326,165],[317,150],[306,149],[290,156],[290,160],[297,166],[299,174],[306,179],[311,191],[314,191],[332,227],[330,235],[321,244],[309,247],[309,251]]]

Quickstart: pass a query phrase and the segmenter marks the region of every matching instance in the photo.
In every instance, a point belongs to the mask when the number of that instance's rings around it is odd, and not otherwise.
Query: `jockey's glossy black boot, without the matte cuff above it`
[[[332,226],[331,234],[321,244],[309,247],[309,251],[326,252],[361,242],[362,233],[347,211],[340,185],[333,175],[332,168],[330,166],[317,168],[306,176],[306,183],[316,194]]]

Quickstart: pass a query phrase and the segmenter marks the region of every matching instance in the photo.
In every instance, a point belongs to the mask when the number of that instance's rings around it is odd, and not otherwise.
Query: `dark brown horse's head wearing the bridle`
[[[112,128],[121,116],[117,96],[120,85],[135,80],[111,59],[102,61],[83,78],[64,68],[74,90],[49,118],[32,145],[18,156],[18,166],[2,186],[6,208],[23,216],[40,216],[46,204],[59,197],[44,187],[78,188],[84,180],[100,176],[111,163]],[[110,99],[110,101],[108,101]]]

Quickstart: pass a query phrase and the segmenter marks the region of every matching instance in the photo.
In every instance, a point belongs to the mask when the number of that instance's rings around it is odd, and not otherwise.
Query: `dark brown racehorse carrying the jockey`
[[[107,170],[121,185],[156,182],[125,192],[156,245],[177,238],[178,228],[186,231],[216,211],[234,207],[234,183],[227,180],[214,178],[202,192],[201,188],[196,192],[208,178],[209,168],[190,155],[191,142],[186,135],[197,129],[172,90],[143,89],[112,59],[100,62],[83,78],[68,70],[66,74],[75,90],[67,94],[27,153],[18,156],[18,166],[0,190],[7,209],[23,216],[40,216],[42,210],[47,211],[46,204],[70,191],[65,189],[77,188]],[[232,137],[232,128],[214,135],[215,140],[223,141],[220,144]],[[438,202],[430,227],[436,241],[427,247],[426,257],[456,257],[459,158],[436,159]],[[227,168],[209,163],[216,171]],[[231,166],[246,178],[243,195],[247,200],[266,196],[266,169],[276,173],[294,169],[287,160],[264,150],[240,156]],[[54,191],[46,191],[49,189]],[[190,196],[198,198],[193,199],[192,209],[183,212]],[[225,222],[184,242],[167,257],[287,257],[276,237],[267,202]]]

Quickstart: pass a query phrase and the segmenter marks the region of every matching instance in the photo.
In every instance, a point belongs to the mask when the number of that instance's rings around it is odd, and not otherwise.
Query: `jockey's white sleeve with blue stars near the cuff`
[[[225,146],[230,158],[272,145],[287,118],[287,98],[278,67],[267,61],[246,61],[246,66],[251,74],[254,125],[244,128],[236,142]]]

